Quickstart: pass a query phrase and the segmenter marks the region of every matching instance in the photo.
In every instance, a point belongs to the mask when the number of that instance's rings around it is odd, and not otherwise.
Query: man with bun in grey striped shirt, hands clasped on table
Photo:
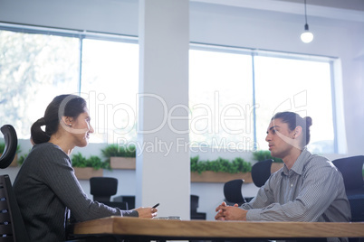
[[[283,112],[273,116],[265,140],[284,167],[256,197],[241,207],[216,208],[216,219],[255,221],[350,221],[350,204],[340,172],[328,159],[311,154],[311,117]]]

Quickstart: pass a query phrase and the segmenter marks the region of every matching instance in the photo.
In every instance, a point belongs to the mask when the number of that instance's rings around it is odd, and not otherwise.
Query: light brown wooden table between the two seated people
[[[81,222],[76,235],[155,239],[364,237],[364,222],[246,222],[110,217]],[[142,240],[142,239],[141,239]]]

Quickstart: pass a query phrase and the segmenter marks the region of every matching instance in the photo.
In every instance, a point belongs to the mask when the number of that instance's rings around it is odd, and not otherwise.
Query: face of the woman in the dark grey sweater
[[[84,112],[72,123],[72,135],[76,146],[84,147],[89,144],[90,134],[94,132],[91,124],[89,109],[85,107]]]

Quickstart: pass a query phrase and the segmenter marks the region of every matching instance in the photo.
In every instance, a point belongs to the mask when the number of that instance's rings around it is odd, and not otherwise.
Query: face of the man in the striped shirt
[[[268,142],[272,156],[283,159],[294,147],[294,131],[281,118],[273,119],[268,126],[265,141]]]

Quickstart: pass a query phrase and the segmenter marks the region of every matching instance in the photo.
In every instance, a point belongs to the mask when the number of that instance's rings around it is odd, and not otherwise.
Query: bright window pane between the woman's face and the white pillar
[[[139,45],[83,40],[81,93],[90,95],[92,143],[137,140]],[[94,112],[94,113],[92,113]]]

